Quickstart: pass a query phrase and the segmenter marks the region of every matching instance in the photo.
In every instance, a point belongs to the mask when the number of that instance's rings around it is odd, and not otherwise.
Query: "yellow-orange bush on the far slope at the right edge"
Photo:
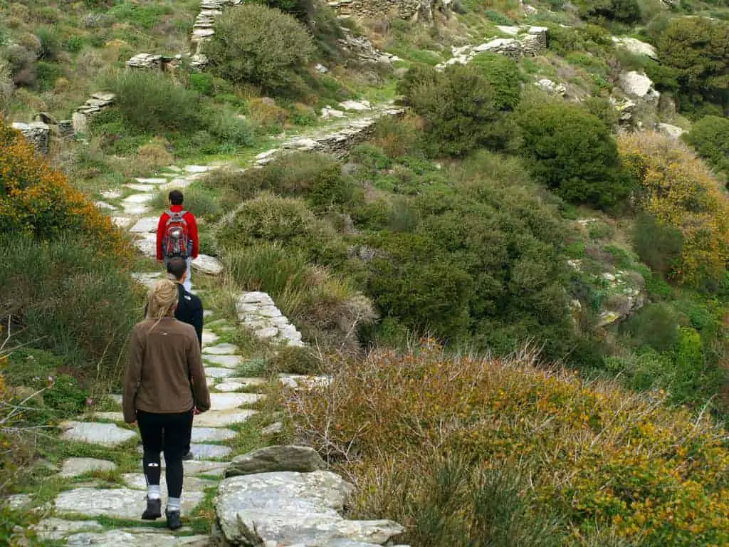
[[[623,164],[642,191],[638,205],[683,236],[679,265],[669,275],[700,284],[725,276],[729,260],[729,198],[693,152],[658,133],[620,136]]]

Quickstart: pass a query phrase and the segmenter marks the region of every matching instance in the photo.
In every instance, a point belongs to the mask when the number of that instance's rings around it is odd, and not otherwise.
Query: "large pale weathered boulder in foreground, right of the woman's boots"
[[[214,505],[233,544],[241,524],[276,546],[382,545],[404,531],[392,521],[346,521],[338,513],[352,486],[328,471],[260,473],[226,478]]]

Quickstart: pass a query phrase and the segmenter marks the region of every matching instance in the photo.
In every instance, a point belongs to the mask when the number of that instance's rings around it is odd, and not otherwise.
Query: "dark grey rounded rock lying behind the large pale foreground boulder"
[[[311,473],[326,468],[316,450],[308,446],[267,446],[243,456],[236,456],[225,470],[226,477],[272,473],[274,471],[297,471]]]

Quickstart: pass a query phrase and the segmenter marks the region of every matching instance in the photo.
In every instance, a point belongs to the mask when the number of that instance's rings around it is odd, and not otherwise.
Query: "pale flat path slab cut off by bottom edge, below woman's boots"
[[[126,530],[79,532],[66,539],[68,547],[208,547],[206,535],[178,536],[168,531],[132,533]]]

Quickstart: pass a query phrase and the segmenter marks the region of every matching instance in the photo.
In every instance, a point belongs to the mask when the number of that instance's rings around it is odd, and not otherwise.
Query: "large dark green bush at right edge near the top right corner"
[[[703,102],[729,104],[728,28],[725,21],[675,18],[658,37],[659,61],[671,71],[673,78],[668,80],[675,79],[678,104],[685,112],[695,111]]]

